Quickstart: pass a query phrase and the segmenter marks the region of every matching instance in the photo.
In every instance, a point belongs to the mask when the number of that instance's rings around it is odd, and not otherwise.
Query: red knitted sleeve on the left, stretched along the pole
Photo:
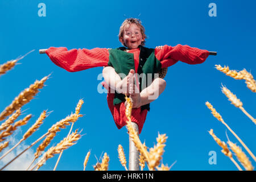
[[[77,72],[108,65],[109,51],[106,48],[71,49],[50,47],[46,50],[49,59],[68,72]]]

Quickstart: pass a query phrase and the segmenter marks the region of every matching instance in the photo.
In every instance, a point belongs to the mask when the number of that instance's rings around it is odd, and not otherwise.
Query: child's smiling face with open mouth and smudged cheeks
[[[129,28],[123,32],[123,36],[119,39],[120,42],[129,49],[138,48],[145,40],[141,34],[141,28],[135,23],[131,23]]]

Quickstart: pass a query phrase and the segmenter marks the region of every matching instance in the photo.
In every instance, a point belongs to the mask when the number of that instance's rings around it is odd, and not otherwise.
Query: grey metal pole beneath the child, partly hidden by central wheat
[[[131,122],[135,131],[139,131],[138,125]],[[129,171],[139,171],[139,151],[135,147],[133,140],[129,137]]]

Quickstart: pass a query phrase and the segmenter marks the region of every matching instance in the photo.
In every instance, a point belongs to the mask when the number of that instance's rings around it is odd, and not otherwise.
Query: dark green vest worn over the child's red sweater
[[[141,49],[141,52],[139,53],[139,66],[137,73],[139,75],[139,92],[141,92],[142,89],[150,85],[147,85],[148,81],[150,81],[151,83],[152,80],[154,80],[154,73],[158,72],[161,69],[162,64],[155,57],[155,49],[146,48],[143,46],[140,46],[139,48]],[[108,65],[110,67],[113,67],[115,69],[115,72],[117,72],[118,74],[123,73],[127,76],[130,72],[130,69],[135,70],[135,65],[133,53],[128,53],[125,50],[125,47],[109,49]],[[152,73],[152,80],[151,77],[148,77],[148,73]],[[125,95],[117,93],[115,91],[113,104],[116,105],[124,101]],[[141,110],[143,109],[150,110],[150,104],[143,105],[141,107]]]

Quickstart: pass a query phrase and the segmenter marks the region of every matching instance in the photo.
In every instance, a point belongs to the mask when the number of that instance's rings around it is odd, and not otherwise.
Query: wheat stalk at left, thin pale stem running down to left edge
[[[23,138],[19,140],[18,143],[15,144],[15,146],[13,146],[9,151],[7,151],[5,154],[3,154],[0,157],[0,160],[2,158],[4,158],[7,154],[9,154],[12,150],[14,150],[14,148],[16,148],[20,143],[22,143],[24,140],[26,140],[28,137],[30,137],[39,127],[40,125],[42,125],[43,120],[46,118],[46,110],[44,110],[40,117],[36,120],[36,122],[34,123],[34,125],[32,125],[30,127],[30,129],[27,130],[27,132],[23,135]]]

